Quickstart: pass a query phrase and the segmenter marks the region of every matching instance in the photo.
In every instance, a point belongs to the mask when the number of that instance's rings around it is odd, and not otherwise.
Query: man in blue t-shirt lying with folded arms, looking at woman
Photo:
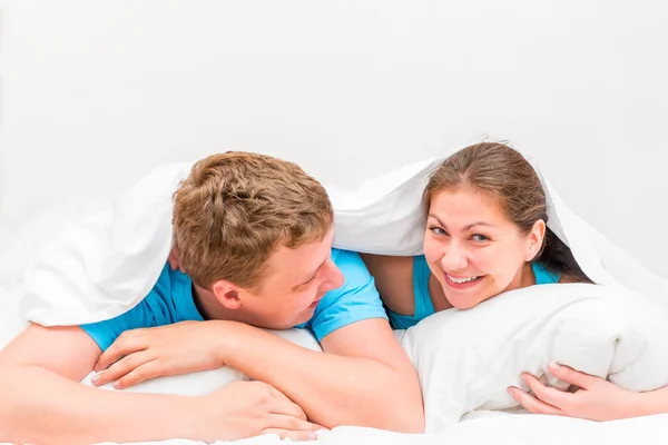
[[[0,442],[308,438],[315,424],[423,431],[416,373],[360,257],[332,249],[333,209],[315,179],[268,156],[214,155],[176,191],[173,218],[184,273],[166,265],[110,320],[32,324],[0,354]],[[295,326],[325,353],[257,328]],[[259,382],[203,397],[79,384],[124,356],[97,384],[224,364]]]

